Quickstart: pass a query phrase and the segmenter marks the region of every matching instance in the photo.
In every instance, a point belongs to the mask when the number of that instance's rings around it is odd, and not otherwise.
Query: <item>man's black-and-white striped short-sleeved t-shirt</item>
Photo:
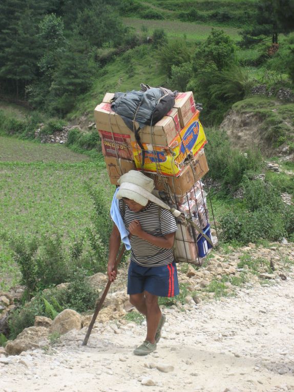
[[[174,215],[157,204],[149,202],[146,207],[139,211],[133,212],[127,204],[119,200],[119,209],[122,219],[127,230],[129,224],[137,219],[144,232],[154,235],[155,237],[163,237],[166,234],[174,233],[178,230]],[[165,249],[152,243],[131,235],[131,260],[142,266],[158,266],[166,265],[174,261],[173,249]]]

